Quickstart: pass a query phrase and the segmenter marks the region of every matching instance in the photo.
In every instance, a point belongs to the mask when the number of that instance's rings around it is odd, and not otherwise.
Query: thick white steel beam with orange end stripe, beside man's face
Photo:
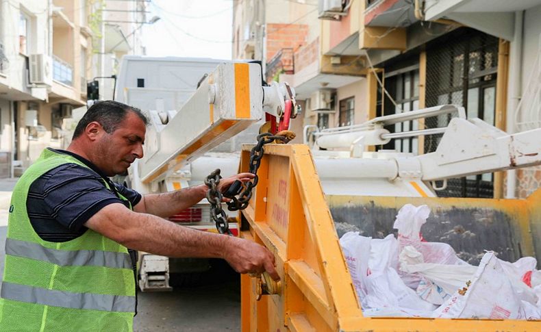
[[[142,183],[164,179],[260,120],[261,82],[259,64],[220,64],[167,125],[151,121],[138,163]]]

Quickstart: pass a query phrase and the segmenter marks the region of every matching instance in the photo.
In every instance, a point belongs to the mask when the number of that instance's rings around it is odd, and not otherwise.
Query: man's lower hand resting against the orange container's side
[[[244,240],[241,238],[229,237],[228,246],[225,248],[224,259],[239,273],[262,274],[268,272],[275,281],[280,276],[275,268],[275,257],[271,251],[264,246]]]

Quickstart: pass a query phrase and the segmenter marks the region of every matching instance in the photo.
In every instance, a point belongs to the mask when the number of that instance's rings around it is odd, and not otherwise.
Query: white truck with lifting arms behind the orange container
[[[142,194],[202,183],[215,168],[221,168],[225,176],[236,173],[239,154],[235,151],[239,143],[255,143],[259,121],[264,116],[288,118],[284,115],[288,107],[296,111],[294,91],[286,84],[262,84],[259,64],[210,59],[127,56],[115,99],[139,107],[151,119],[144,157],[131,166],[126,180]],[[402,133],[383,128],[449,113],[455,118],[443,128]],[[436,133],[443,137],[433,153],[365,151],[366,146],[394,138]],[[453,177],[541,164],[541,129],[507,135],[477,118],[466,119],[464,109],[454,105],[382,116],[314,135],[312,156],[327,195],[435,197],[442,187],[435,186],[436,180],[445,183]],[[222,145],[220,152],[210,152],[224,143],[229,144],[227,149]],[[206,200],[170,220],[216,231]],[[236,222],[229,228],[238,234]],[[200,259],[142,253],[140,288],[169,290],[170,273],[197,272],[207,266]]]

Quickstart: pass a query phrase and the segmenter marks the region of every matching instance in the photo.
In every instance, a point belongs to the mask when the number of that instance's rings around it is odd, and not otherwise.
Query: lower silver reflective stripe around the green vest
[[[45,290],[16,283],[2,283],[2,298],[40,305],[52,305],[71,309],[133,312],[135,296],[72,293],[61,290]]]

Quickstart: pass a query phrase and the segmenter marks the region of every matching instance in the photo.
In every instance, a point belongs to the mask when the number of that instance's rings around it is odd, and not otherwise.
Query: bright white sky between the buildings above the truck
[[[231,59],[233,1],[151,0],[143,27],[149,56]]]

